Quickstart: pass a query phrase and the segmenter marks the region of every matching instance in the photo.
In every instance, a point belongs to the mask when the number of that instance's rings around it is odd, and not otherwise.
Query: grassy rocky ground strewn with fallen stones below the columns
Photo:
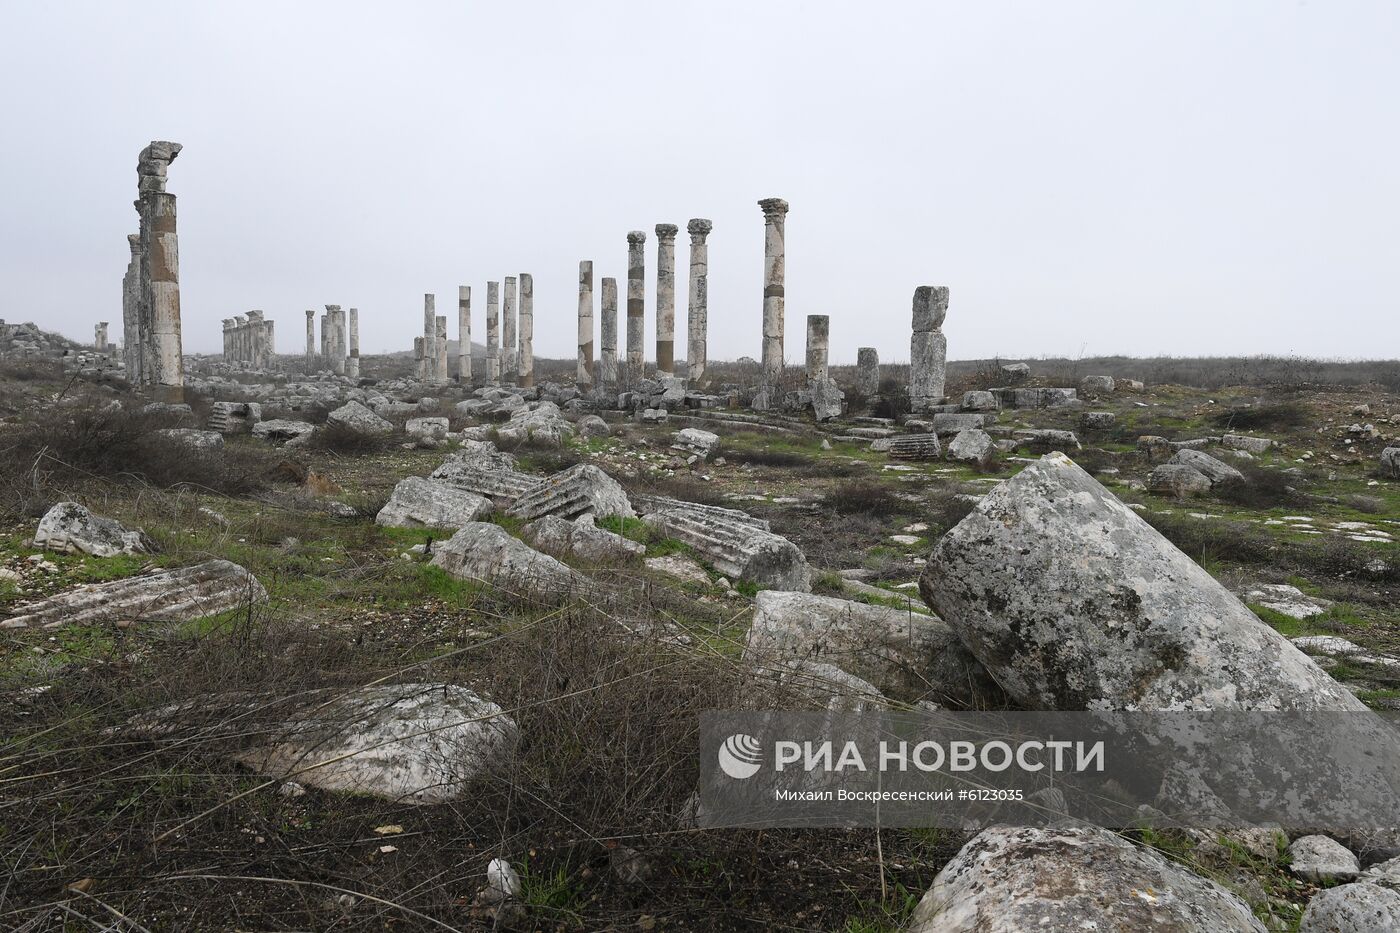
[[[1032,367],[1016,388],[1077,398],[1025,408],[983,367],[946,412],[910,416],[890,391],[815,423],[724,392],[633,413],[563,381],[538,401],[384,375],[216,373],[188,412],[101,373],[25,363],[0,384],[6,925],[1046,929],[1053,898],[1015,887],[1032,850],[1099,873],[1072,905],[1098,929],[1400,916],[1383,857],[1400,850],[1306,834],[704,832],[687,815],[704,709],[1044,707],[967,653],[963,595],[938,574],[976,576],[986,559],[948,532],[1008,483],[1023,499],[1014,479],[1051,450],[1313,657],[1309,698],[1400,707],[1393,388]],[[916,654],[881,661],[910,618]],[[822,665],[760,653],[816,637],[839,647]],[[1186,908],[1124,912],[1147,884]]]

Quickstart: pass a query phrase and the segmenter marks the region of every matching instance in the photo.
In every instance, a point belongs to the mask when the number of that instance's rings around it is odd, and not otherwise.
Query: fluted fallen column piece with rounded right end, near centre
[[[658,510],[648,525],[690,545],[715,570],[769,590],[812,588],[806,558],[787,538],[753,525],[690,509]]]

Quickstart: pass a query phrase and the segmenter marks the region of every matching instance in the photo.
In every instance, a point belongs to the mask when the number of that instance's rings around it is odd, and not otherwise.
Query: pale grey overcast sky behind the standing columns
[[[1400,356],[1400,4],[18,3],[0,7],[0,317],[120,333],[136,157],[183,143],[185,350],[251,308],[360,308],[535,276],[573,356],[577,270],[626,279],[710,217],[710,356],[759,356],[760,198],[791,203],[787,357]]]

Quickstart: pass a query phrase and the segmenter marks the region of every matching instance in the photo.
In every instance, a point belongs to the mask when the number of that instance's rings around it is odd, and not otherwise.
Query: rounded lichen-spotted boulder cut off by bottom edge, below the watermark
[[[944,866],[909,933],[1264,933],[1249,905],[1098,827],[993,827]]]

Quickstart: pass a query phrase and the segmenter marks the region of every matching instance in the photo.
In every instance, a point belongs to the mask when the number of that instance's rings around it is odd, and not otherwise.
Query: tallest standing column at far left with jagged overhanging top
[[[143,378],[164,402],[185,399],[175,195],[165,191],[167,170],[181,148],[179,143],[153,140],[136,163],[136,210],[141,217],[141,322],[150,353],[150,370],[143,364]]]

